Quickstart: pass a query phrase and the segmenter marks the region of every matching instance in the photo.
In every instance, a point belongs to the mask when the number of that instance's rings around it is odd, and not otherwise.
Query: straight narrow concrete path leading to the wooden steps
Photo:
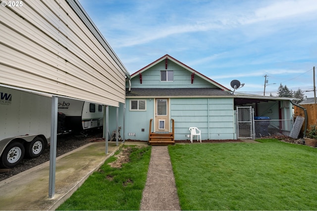
[[[167,146],[152,146],[141,210],[180,210],[175,178]]]

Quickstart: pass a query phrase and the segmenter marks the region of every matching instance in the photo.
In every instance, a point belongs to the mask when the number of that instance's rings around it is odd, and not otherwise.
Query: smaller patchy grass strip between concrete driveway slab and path
[[[131,147],[129,150],[128,163],[122,168],[112,168],[108,164],[116,158],[110,157],[57,210],[139,210],[151,147]]]

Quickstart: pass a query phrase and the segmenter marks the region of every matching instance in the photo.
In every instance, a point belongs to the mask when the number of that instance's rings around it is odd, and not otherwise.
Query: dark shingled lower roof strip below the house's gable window
[[[229,91],[223,91],[218,88],[132,88],[126,92],[126,97],[131,96],[218,96],[234,97]]]

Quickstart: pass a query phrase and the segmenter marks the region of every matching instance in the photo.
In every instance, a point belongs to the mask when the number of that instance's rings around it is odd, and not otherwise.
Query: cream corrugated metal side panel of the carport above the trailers
[[[77,0],[0,7],[0,84],[119,106],[126,76]]]

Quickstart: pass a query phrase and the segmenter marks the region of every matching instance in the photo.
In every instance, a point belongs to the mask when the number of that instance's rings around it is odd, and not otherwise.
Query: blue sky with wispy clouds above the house
[[[169,54],[239,92],[263,95],[267,75],[265,95],[282,84],[314,97],[317,0],[79,2],[130,74]]]

